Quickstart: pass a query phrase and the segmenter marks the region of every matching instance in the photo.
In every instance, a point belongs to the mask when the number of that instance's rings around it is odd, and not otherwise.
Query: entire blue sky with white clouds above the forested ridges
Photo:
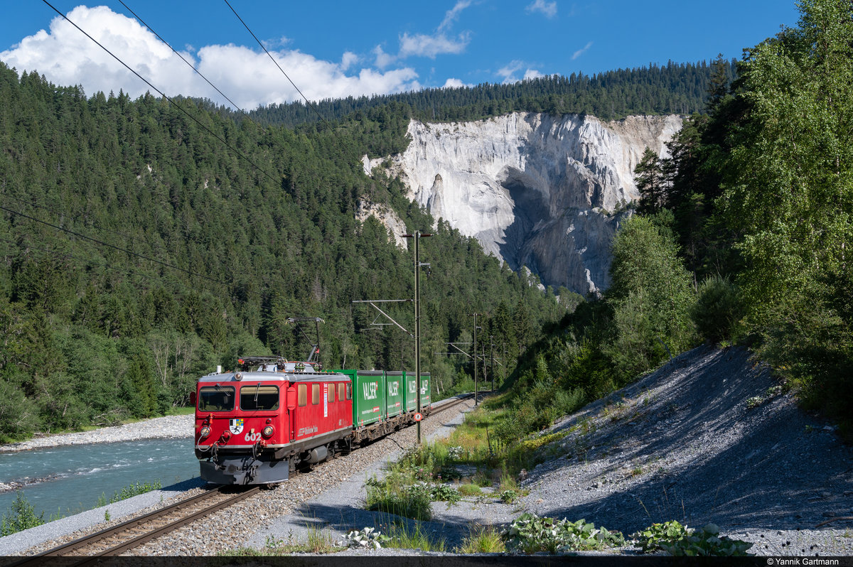
[[[223,0],[124,1],[241,107],[299,96]],[[793,0],[229,2],[313,100],[740,59],[798,20]],[[167,95],[225,102],[118,0],[51,3]],[[38,0],[4,3],[0,60],[89,95],[149,90]]]

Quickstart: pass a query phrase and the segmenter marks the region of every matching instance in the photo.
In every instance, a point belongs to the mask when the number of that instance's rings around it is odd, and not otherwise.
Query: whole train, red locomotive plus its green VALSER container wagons
[[[195,394],[195,456],[210,483],[279,483],[413,423],[414,373],[321,372],[275,356],[239,362],[236,372],[201,377]],[[432,408],[429,379],[421,374],[421,414]]]

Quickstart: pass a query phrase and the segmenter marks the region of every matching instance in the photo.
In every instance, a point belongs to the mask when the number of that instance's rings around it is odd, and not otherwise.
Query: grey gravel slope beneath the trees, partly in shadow
[[[713,522],[764,555],[853,555],[853,451],[775,385],[746,350],[684,353],[555,425],[571,432],[524,505],[626,534]]]

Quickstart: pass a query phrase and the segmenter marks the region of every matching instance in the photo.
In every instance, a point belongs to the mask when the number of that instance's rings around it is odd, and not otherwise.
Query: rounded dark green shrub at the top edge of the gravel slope
[[[734,338],[745,313],[737,286],[725,278],[712,276],[699,286],[699,298],[690,317],[699,335],[711,343]]]

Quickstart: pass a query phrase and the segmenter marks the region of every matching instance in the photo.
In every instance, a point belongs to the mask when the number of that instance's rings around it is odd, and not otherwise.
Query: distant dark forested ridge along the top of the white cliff
[[[722,61],[726,78],[735,76],[735,62]],[[572,73],[512,84],[479,84],[455,89],[425,89],[398,95],[324,100],[306,107],[301,101],[252,111],[264,124],[304,124],[320,117],[342,119],[388,104],[409,108],[424,122],[479,120],[513,112],[592,114],[623,119],[636,114],[690,114],[705,107],[712,78],[719,67],[699,61],[618,69],[589,76]]]

